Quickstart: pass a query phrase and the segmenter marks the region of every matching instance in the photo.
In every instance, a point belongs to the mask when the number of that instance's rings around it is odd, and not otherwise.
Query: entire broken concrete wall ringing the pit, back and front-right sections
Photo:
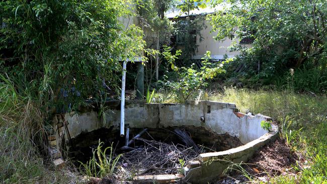
[[[101,117],[101,118],[99,118]],[[105,116],[92,109],[83,113],[66,113],[65,128],[55,127],[57,147],[81,133],[100,128],[119,129],[120,101],[107,103]],[[185,104],[146,104],[143,101],[126,101],[125,124],[130,128],[165,128],[192,125],[206,127],[217,134],[229,134],[244,144],[226,151],[203,153],[189,161],[184,168],[185,178],[193,183],[206,183],[219,177],[231,162],[245,162],[258,148],[276,139],[278,128],[270,131],[261,127],[262,121],[272,118],[239,113],[235,104],[212,101],[187,101]],[[65,133],[65,132],[69,132]],[[63,139],[62,139],[63,137]],[[223,161],[228,159],[229,161]]]

